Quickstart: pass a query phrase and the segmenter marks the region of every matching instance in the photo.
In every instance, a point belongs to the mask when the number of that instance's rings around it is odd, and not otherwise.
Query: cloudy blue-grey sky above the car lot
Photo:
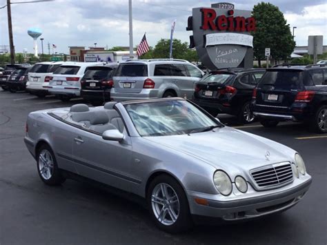
[[[17,1],[28,0],[11,0]],[[192,8],[210,7],[210,0],[132,0],[133,41],[139,44],[144,33],[150,46],[161,38],[170,38],[170,26],[176,20],[174,37],[189,41],[186,31]],[[235,9],[252,10],[258,1],[229,1]],[[297,46],[308,44],[308,35],[324,35],[327,45],[327,0],[270,0],[284,13],[290,28],[296,26]],[[0,0],[1,6],[6,0]],[[44,52],[54,44],[54,52],[68,53],[68,46],[111,48],[128,46],[128,0],[55,0],[44,3],[12,4],[12,26],[16,52],[33,52],[29,28],[43,31]],[[0,46],[8,45],[7,9],[0,9]],[[41,41],[39,41],[41,52]],[[52,52],[52,50],[50,50]]]

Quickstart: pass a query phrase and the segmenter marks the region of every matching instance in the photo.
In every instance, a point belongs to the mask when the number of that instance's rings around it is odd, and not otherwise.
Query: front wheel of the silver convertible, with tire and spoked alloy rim
[[[158,228],[168,233],[192,227],[186,193],[170,175],[159,175],[150,183],[147,194],[150,216]]]

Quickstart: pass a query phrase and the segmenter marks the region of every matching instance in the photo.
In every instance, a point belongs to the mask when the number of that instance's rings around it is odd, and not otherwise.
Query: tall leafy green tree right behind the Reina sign
[[[277,61],[290,57],[295,41],[279,8],[271,3],[261,2],[253,8],[252,16],[255,17],[257,26],[257,30],[252,32],[253,51],[259,67],[261,60],[265,59],[265,48],[270,48],[271,57]]]

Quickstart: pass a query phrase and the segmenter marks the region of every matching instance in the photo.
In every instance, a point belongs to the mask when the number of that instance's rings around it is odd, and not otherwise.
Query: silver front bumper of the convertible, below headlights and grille
[[[208,199],[208,205],[195,202],[196,193],[188,193],[190,213],[202,217],[220,217],[226,221],[251,219],[286,210],[299,202],[310,187],[312,179],[288,190],[259,197],[217,201]]]

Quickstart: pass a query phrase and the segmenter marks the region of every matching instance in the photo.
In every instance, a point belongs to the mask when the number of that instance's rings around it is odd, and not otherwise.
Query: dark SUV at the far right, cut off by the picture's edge
[[[327,66],[287,66],[267,69],[253,91],[253,114],[263,126],[279,121],[305,121],[327,133]]]

